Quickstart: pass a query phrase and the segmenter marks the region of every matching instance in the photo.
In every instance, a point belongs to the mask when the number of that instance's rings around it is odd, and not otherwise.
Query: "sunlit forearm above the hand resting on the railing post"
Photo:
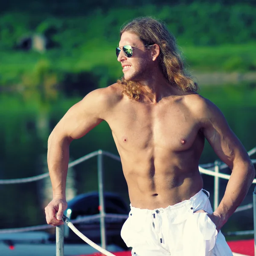
[[[66,198],[66,180],[70,140],[51,134],[48,140],[47,162],[53,197]]]

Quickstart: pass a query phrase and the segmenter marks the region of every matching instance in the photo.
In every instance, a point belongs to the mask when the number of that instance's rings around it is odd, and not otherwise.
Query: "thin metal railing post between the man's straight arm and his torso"
[[[99,214],[100,214],[100,235],[101,247],[106,249],[106,232],[105,232],[105,206],[104,206],[104,186],[103,186],[103,152],[98,151],[98,183],[99,183]]]

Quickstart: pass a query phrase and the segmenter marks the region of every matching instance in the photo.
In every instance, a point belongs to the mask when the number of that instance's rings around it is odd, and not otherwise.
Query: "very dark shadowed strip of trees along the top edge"
[[[5,1],[1,3],[0,12],[28,12],[28,13],[48,13],[50,15],[81,15],[89,13],[92,9],[102,8],[109,10],[116,7],[127,8],[128,6],[145,6],[148,4],[157,5],[178,5],[191,4],[193,0],[25,0],[25,1]],[[249,4],[256,5],[254,0],[197,0],[198,3],[220,3],[222,5]]]

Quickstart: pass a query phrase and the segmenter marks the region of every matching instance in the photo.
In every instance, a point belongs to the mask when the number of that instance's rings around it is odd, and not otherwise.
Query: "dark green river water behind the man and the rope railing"
[[[248,150],[256,146],[256,88],[253,84],[202,87],[201,95],[212,100],[227,118],[232,130]],[[26,99],[23,95],[0,95],[0,179],[31,177],[47,172],[47,138],[64,113],[80,98],[60,98],[55,102]],[[103,149],[117,154],[106,123],[90,131],[70,146],[70,158]],[[256,158],[256,157],[255,157]],[[217,156],[206,144],[201,163],[212,163]],[[104,157],[105,189],[118,192],[128,203],[127,186],[119,162]],[[225,171],[229,173],[229,171]],[[97,190],[96,157],[73,168],[70,195]],[[203,175],[205,189],[212,192],[213,177]],[[72,178],[70,178],[72,180]],[[221,180],[221,195],[227,184]],[[252,202],[253,186],[245,203]],[[44,224],[44,207],[51,197],[49,179],[13,185],[0,185],[0,228]],[[211,195],[211,201],[213,194]],[[239,218],[246,219],[241,223]],[[230,218],[227,230],[250,230],[252,210]],[[227,224],[226,224],[227,225]]]

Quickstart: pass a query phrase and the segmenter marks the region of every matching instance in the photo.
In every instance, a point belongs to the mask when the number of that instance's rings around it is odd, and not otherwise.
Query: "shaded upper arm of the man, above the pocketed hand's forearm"
[[[212,103],[204,113],[207,117],[203,121],[202,130],[218,157],[230,168],[235,160],[247,160],[244,146],[229,127],[223,113]]]

